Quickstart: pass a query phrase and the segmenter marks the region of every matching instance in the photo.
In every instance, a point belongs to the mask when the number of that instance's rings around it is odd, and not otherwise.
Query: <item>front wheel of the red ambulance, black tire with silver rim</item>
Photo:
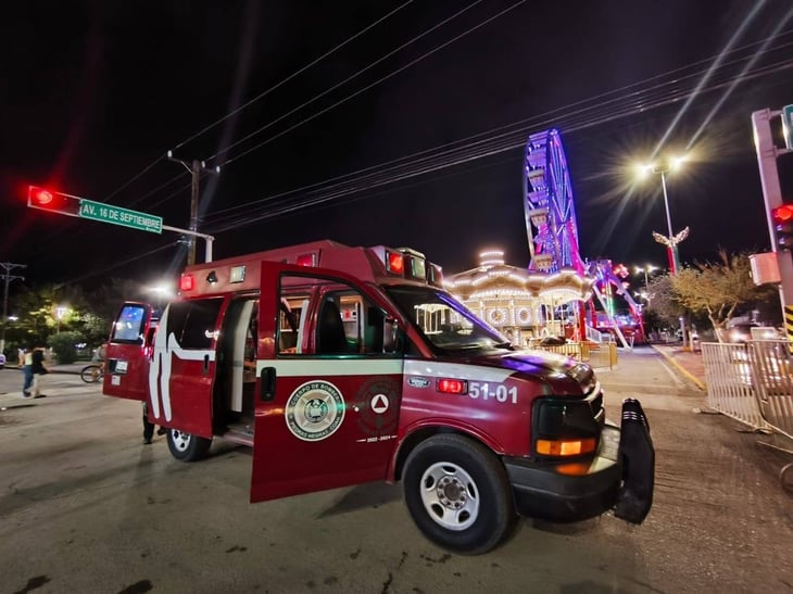
[[[433,435],[417,445],[405,463],[403,483],[405,504],[418,529],[453,553],[487,553],[515,526],[503,465],[463,435]]]

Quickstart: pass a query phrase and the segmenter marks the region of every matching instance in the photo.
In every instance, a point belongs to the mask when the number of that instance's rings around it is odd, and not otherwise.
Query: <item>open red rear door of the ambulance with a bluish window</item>
[[[151,329],[156,321],[147,303],[127,302],[113,321],[105,351],[102,393],[144,401],[149,388]]]

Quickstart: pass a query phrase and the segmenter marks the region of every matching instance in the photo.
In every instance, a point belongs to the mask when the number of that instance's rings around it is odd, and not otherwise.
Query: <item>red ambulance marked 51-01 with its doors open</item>
[[[407,249],[317,241],[188,266],[162,315],[125,303],[106,395],[148,402],[174,457],[253,447],[251,501],[401,480],[432,542],[495,547],[517,515],[650,510],[640,404],[606,422],[592,369],[517,350]]]

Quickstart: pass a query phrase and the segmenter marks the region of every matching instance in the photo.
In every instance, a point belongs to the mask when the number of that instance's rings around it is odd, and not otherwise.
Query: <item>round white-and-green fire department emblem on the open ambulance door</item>
[[[332,383],[306,381],[287,401],[287,427],[303,441],[332,435],[344,420],[344,399]]]

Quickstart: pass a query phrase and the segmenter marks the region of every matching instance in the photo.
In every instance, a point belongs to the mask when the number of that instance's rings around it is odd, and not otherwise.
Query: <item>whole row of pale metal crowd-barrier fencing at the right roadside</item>
[[[710,407],[755,429],[793,439],[791,344],[757,340],[702,344]]]

